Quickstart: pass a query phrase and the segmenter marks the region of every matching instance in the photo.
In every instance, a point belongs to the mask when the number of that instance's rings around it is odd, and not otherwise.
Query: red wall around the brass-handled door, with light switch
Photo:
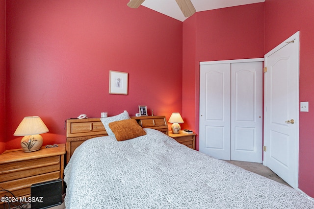
[[[299,188],[314,197],[314,1],[265,1],[265,50],[267,53],[300,31],[300,95],[309,112],[300,112]]]

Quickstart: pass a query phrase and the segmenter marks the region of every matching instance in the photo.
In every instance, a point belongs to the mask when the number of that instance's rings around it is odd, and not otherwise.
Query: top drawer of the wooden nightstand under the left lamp
[[[0,182],[60,170],[60,156],[6,163],[0,167]]]

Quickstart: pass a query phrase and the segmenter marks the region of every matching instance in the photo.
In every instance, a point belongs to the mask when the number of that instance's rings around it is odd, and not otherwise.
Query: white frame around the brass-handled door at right
[[[295,186],[293,186],[294,188],[298,188],[299,187],[299,114],[300,114],[300,107],[299,107],[299,104],[300,104],[300,88],[299,88],[299,84],[300,84],[300,76],[299,76],[299,73],[300,73],[300,32],[297,31],[295,34],[293,34],[292,36],[290,36],[288,39],[286,39],[285,41],[283,41],[281,44],[279,44],[278,46],[276,46],[275,48],[273,48],[272,50],[270,50],[268,53],[266,53],[264,55],[264,59],[265,59],[265,62],[264,62],[264,66],[267,66],[267,57],[269,57],[270,55],[274,54],[275,52],[277,52],[278,50],[280,50],[281,48],[287,46],[291,40],[294,40],[297,45],[297,71],[298,71],[298,77],[297,77],[297,86],[298,86],[298,91],[297,91],[297,106],[298,106],[298,110],[297,110],[297,114],[296,114],[296,124],[297,125],[297,133],[296,133],[296,148],[295,148],[295,162],[296,162],[296,166],[295,166]],[[266,89],[266,77],[264,76],[264,98],[265,98],[265,89]],[[269,143],[269,139],[267,139],[265,136],[267,136],[266,132],[269,131],[267,130],[266,128],[268,127],[267,124],[266,124],[266,103],[267,101],[264,100],[264,132],[263,132],[263,135],[264,135],[264,139],[263,139],[263,144],[264,146],[267,147],[267,144]],[[267,152],[267,150],[266,150]],[[265,156],[265,150],[263,150],[263,156]],[[263,165],[267,166],[267,158],[264,158],[263,157]]]

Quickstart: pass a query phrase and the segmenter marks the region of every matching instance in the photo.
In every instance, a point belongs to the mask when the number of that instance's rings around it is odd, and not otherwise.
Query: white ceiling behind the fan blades
[[[265,0],[191,0],[196,9],[196,12],[259,3],[264,1]],[[182,14],[176,0],[145,0],[142,3],[142,6],[153,9],[182,22],[186,19]]]

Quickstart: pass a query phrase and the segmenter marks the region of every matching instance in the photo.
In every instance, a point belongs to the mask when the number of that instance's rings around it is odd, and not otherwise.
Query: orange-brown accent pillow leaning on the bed
[[[144,129],[135,119],[125,119],[109,123],[109,128],[118,141],[133,139],[146,135]]]

